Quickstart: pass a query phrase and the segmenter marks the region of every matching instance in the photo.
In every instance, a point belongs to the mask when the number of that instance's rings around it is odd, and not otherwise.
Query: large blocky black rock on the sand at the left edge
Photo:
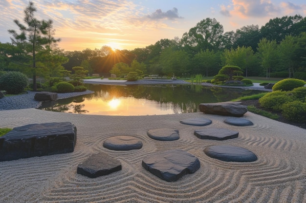
[[[0,161],[68,153],[76,144],[76,127],[70,122],[30,124],[0,137]]]

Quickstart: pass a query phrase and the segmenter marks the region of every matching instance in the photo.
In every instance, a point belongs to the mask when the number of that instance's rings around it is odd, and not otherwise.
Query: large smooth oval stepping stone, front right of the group
[[[254,162],[257,156],[246,148],[215,145],[204,149],[204,153],[214,159],[225,162]]]

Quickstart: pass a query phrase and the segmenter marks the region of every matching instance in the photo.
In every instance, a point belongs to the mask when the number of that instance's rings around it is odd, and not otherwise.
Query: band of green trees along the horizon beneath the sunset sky
[[[184,77],[213,76],[222,66],[239,66],[243,76],[306,77],[306,18],[300,15],[270,19],[264,26],[248,25],[230,32],[215,18],[205,18],[181,38],[160,39],[134,50],[112,50],[108,46],[83,51],[65,51],[54,38],[52,20],[38,20],[33,2],[24,10],[20,29],[9,30],[11,43],[0,43],[0,71],[21,71],[50,79],[83,67],[88,74],[143,74]],[[297,74],[298,73],[298,74]],[[302,73],[302,74],[301,74]],[[305,78],[304,78],[305,79]],[[36,81],[35,81],[36,82]]]

